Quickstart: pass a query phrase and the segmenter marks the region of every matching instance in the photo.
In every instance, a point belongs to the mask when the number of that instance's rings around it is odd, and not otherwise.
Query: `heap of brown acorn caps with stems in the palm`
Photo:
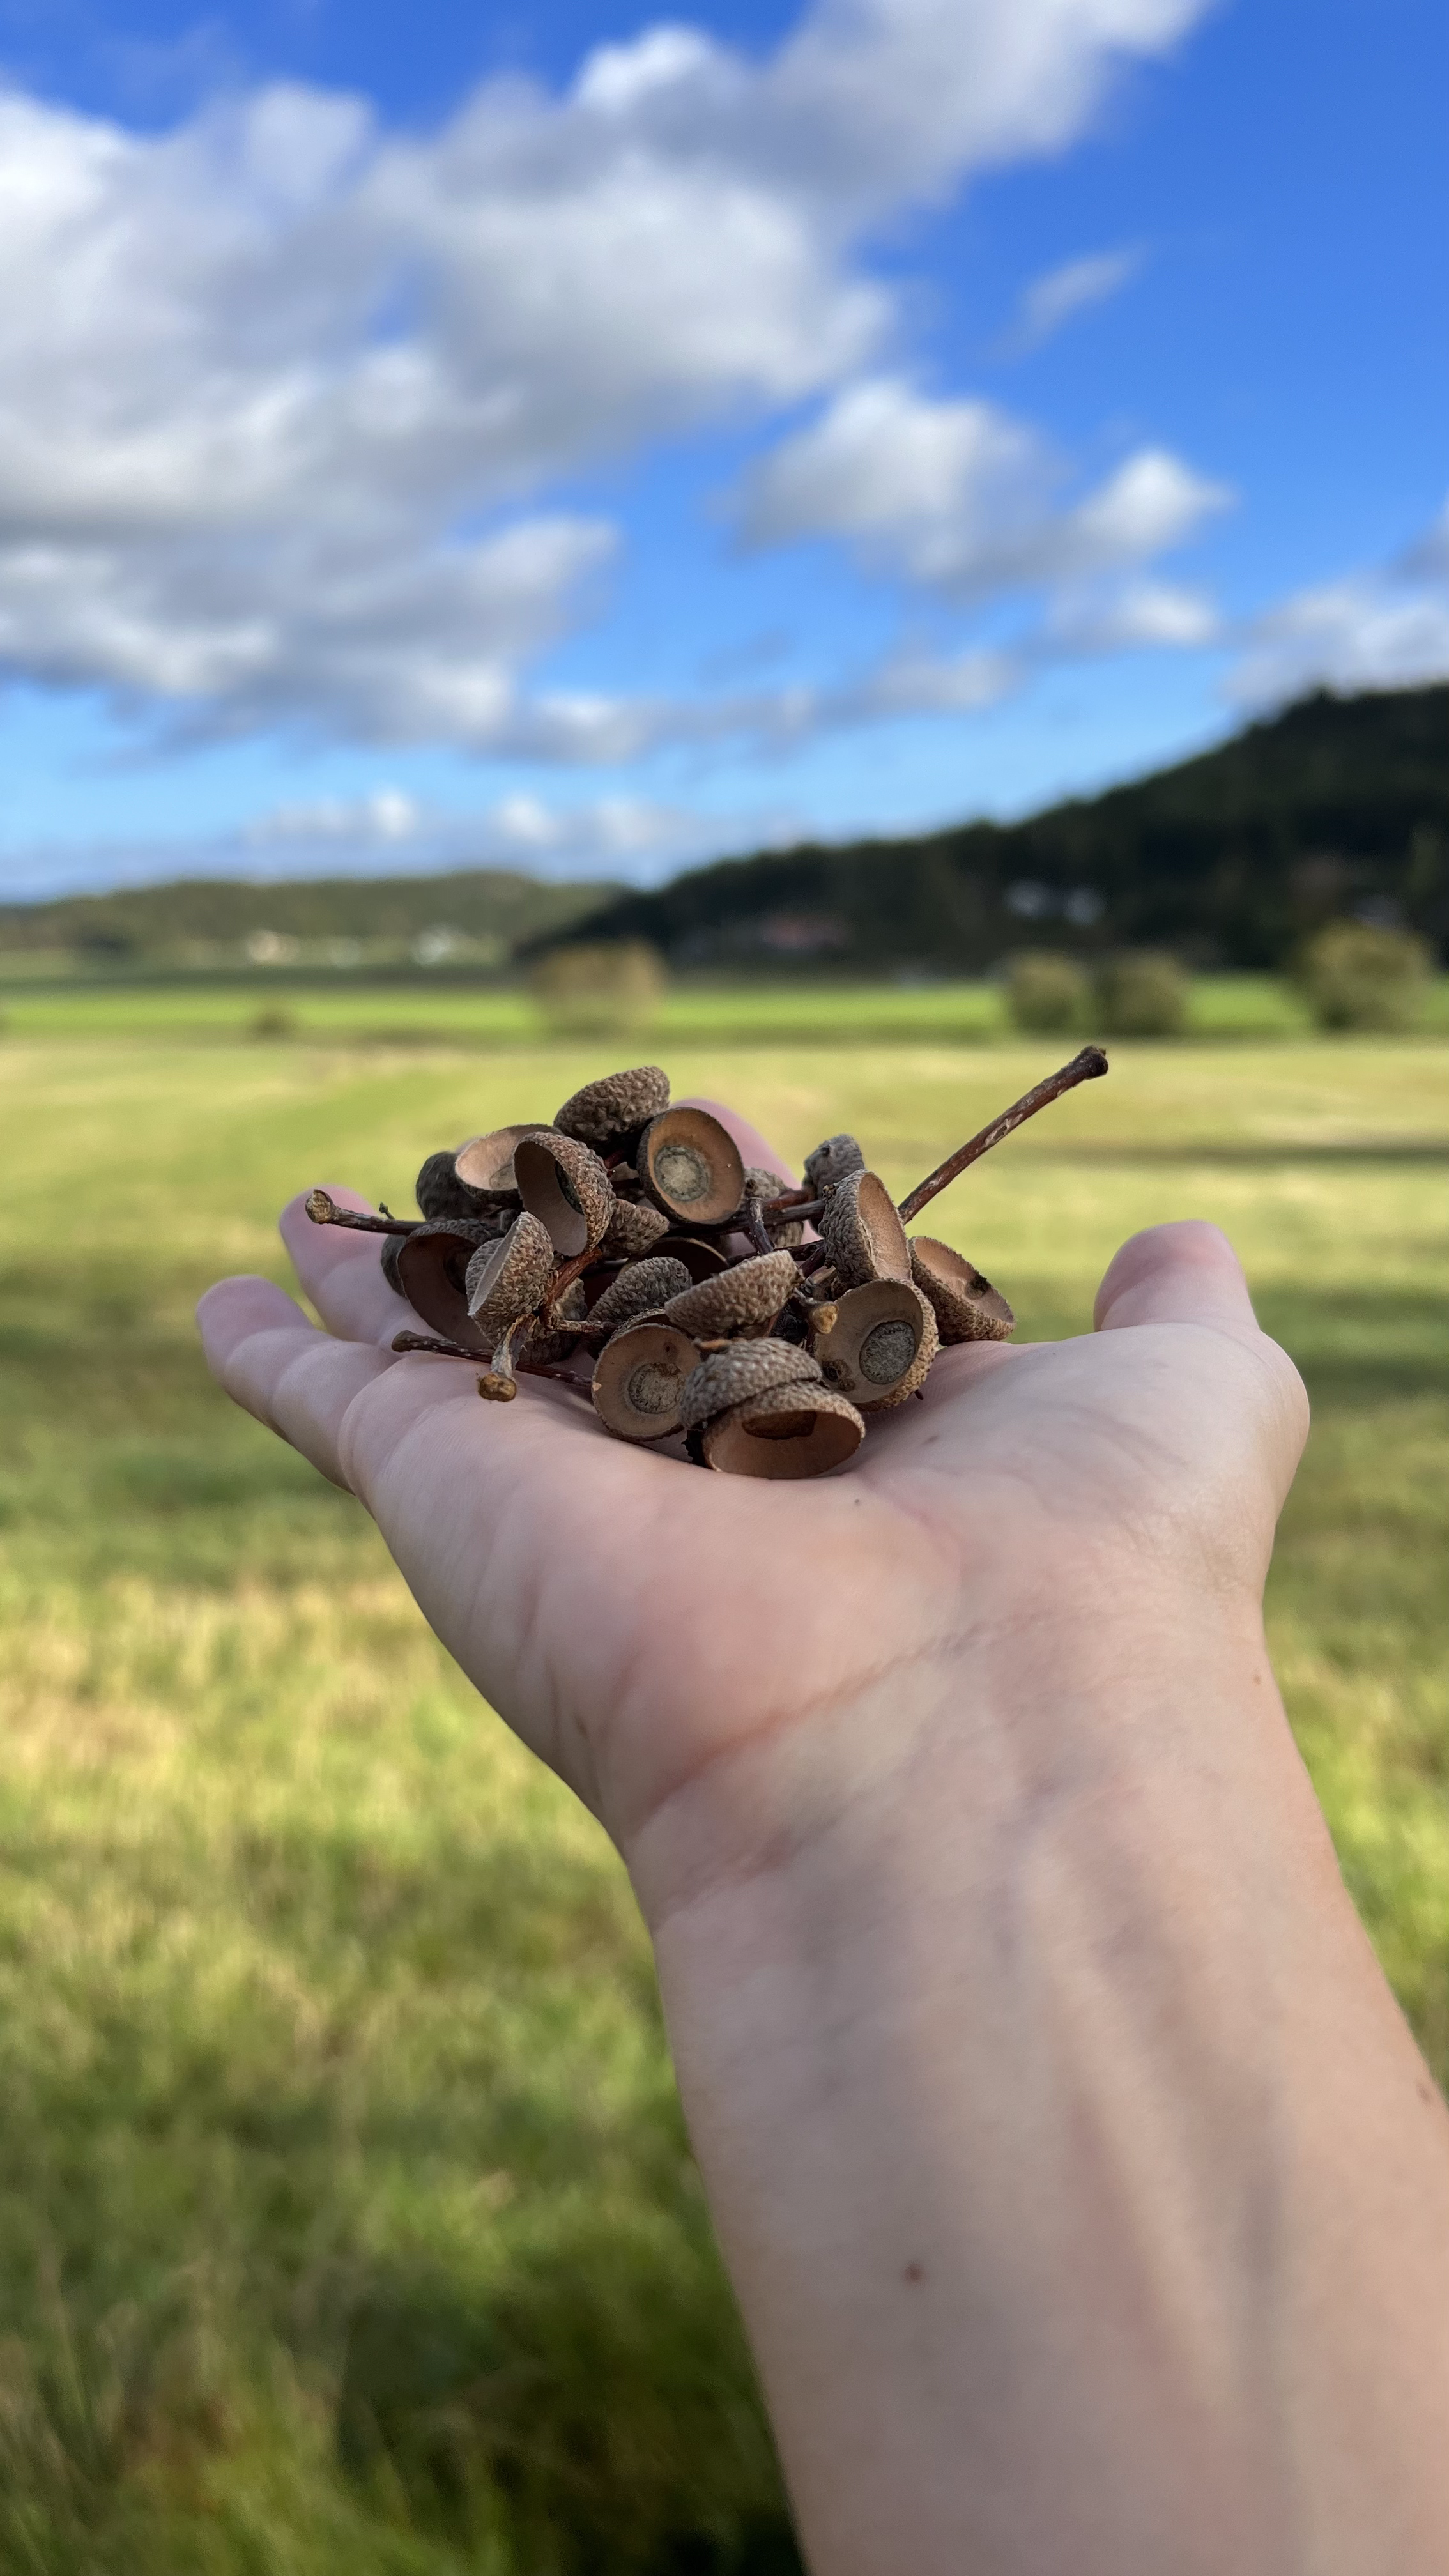
[[[670,1108],[639,1064],[547,1126],[505,1126],[428,1154],[418,1221],[361,1216],[312,1190],[315,1224],[384,1234],[382,1267],[428,1334],[394,1350],[482,1360],[480,1394],[518,1376],[590,1396],[619,1440],[683,1432],[732,1476],[820,1476],[905,1404],[944,1342],[1000,1342],[1003,1296],[905,1218],[964,1162],[1070,1082],[1085,1048],[895,1206],[853,1136],[804,1159],[804,1188],[745,1164],[727,1128]],[[1080,1066],[1080,1069],[1078,1069]],[[1042,1095],[1042,1097],[1039,1097]],[[585,1373],[588,1370],[588,1373]]]

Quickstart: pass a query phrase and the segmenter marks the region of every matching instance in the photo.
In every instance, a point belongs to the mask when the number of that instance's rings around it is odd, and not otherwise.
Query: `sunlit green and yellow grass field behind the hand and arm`
[[[0,1046],[0,2568],[776,2576],[619,1868],[191,1329],[217,1270],[284,1275],[289,1188],[405,1206],[598,1048],[258,1046],[142,999],[36,997]],[[668,1046],[897,1185],[1052,1054]],[[1315,1399],[1274,1651],[1441,2076],[1446,1077],[1428,1041],[1122,1046],[938,1211],[1026,1334],[1080,1332],[1134,1226],[1240,1244]]]

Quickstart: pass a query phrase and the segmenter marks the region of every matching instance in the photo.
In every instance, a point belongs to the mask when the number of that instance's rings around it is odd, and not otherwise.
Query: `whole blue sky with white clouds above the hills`
[[[0,891],[660,876],[1449,672],[1441,0],[0,0]]]

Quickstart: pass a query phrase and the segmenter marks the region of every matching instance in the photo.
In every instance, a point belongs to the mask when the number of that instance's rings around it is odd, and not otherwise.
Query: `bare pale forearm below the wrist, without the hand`
[[[1449,2125],[1250,1620],[982,1636],[634,1868],[817,2576],[1449,2563]]]

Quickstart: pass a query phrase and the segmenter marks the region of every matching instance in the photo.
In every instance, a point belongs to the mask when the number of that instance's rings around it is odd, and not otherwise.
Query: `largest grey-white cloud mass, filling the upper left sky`
[[[611,554],[549,484],[856,376],[869,227],[1057,149],[1201,5],[815,0],[761,62],[655,26],[423,137],[297,85],[170,134],[0,95],[0,657],[219,729],[621,757],[619,711],[521,698]]]

